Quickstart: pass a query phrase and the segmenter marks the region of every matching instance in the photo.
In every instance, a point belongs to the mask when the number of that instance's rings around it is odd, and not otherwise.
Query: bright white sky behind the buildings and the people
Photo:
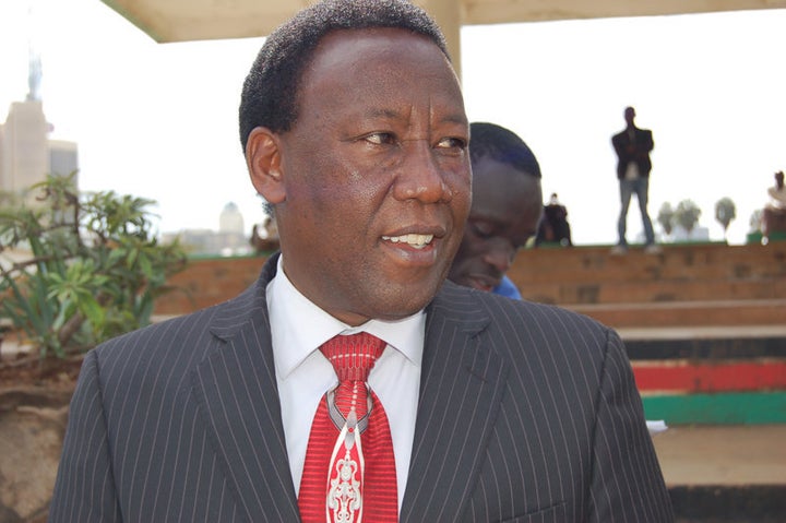
[[[32,16],[28,14],[32,5]],[[786,169],[786,10],[536,22],[462,29],[472,121],[521,135],[559,194],[576,245],[617,240],[611,134],[624,107],[652,129],[650,215],[690,199],[724,237],[731,198],[742,243],[774,173]],[[78,142],[82,190],[155,200],[162,233],[217,229],[235,202],[262,219],[238,131],[242,81],[263,38],[156,44],[99,0],[0,1],[0,120],[27,93],[28,41],[43,61],[50,138]],[[628,239],[641,233],[635,200]],[[656,231],[660,227],[655,225]]]

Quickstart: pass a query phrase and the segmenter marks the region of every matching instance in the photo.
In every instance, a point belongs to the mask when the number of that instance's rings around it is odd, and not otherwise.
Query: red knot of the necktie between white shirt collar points
[[[322,354],[333,364],[338,381],[368,381],[377,358],[382,355],[385,342],[367,332],[348,336],[334,336],[321,347]]]

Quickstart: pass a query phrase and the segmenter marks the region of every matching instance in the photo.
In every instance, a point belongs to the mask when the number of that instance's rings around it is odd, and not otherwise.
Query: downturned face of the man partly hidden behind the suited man
[[[520,247],[537,231],[543,212],[540,180],[491,158],[473,165],[473,202],[450,280],[492,290]]]

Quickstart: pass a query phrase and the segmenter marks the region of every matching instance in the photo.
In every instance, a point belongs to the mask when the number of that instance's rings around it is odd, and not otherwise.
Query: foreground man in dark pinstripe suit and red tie
[[[314,411],[340,382],[318,347],[359,331],[384,350],[352,383],[386,413],[395,462],[364,511],[384,490],[386,521],[670,521],[619,337],[444,282],[469,128],[419,8],[307,8],[265,40],[240,135],[281,253],[237,298],[88,353],[50,521],[333,521],[298,499]],[[371,452],[350,402],[336,450]]]

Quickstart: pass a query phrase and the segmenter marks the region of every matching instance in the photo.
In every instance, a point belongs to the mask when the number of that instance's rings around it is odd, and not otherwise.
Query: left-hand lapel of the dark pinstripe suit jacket
[[[276,257],[249,290],[221,306],[215,348],[193,391],[222,468],[248,521],[298,521],[286,452],[264,289]]]

